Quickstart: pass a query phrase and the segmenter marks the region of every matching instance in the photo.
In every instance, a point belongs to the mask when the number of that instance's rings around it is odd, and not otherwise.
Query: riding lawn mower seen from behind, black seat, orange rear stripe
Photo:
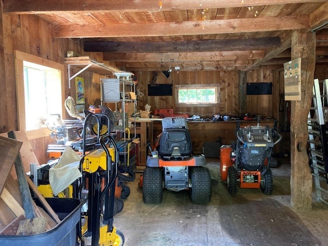
[[[189,190],[195,203],[208,203],[212,195],[209,170],[204,155],[193,155],[192,142],[185,117],[166,117],[162,133],[156,138],[152,155],[140,177],[145,203],[160,203],[163,188]]]

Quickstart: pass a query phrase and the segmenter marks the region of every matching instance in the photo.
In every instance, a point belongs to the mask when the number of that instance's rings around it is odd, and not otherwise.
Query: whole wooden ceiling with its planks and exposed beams
[[[3,11],[35,14],[54,38],[82,38],[127,71],[282,68],[294,30],[315,32],[327,66],[326,0],[11,0]]]

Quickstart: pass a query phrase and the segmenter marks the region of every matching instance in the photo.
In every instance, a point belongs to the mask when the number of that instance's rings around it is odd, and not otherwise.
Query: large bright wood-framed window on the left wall
[[[19,130],[43,132],[63,113],[64,66],[15,51],[15,68]]]

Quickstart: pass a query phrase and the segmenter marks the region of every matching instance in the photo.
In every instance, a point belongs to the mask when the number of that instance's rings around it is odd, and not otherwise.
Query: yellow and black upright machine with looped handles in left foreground
[[[111,124],[112,114],[112,111],[106,114],[91,113],[86,116],[85,122],[90,122],[89,117],[95,118],[99,126],[101,125],[100,119],[107,121],[108,132],[111,132],[111,127],[114,125]],[[86,126],[84,131],[85,128]],[[125,240],[124,235],[113,226],[119,152],[110,134],[99,136],[99,144],[101,148],[88,154],[85,154],[84,151],[80,160],[80,169],[83,171],[83,176],[80,180],[78,198],[84,199],[88,207],[87,212],[82,213],[83,218],[79,223],[81,228],[80,245],[84,246],[85,239],[91,237],[91,246],[122,246]],[[109,145],[113,147],[108,147]],[[82,197],[82,190],[88,191],[86,197]]]

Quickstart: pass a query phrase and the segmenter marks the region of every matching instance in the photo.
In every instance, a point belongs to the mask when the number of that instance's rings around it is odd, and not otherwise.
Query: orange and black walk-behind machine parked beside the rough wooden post
[[[273,191],[273,176],[270,162],[273,147],[282,136],[276,131],[277,121],[272,129],[260,126],[236,128],[236,142],[220,148],[221,181],[227,182],[228,192],[237,193],[240,188],[261,188],[266,195]]]

